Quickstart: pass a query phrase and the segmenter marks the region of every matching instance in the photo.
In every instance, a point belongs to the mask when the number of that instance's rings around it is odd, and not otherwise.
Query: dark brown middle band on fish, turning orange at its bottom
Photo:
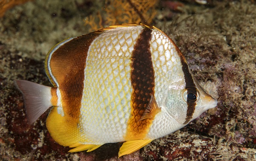
[[[131,117],[128,120],[127,139],[144,138],[151,125],[150,120],[141,120],[154,95],[154,69],[150,52],[151,29],[143,29],[131,55]]]

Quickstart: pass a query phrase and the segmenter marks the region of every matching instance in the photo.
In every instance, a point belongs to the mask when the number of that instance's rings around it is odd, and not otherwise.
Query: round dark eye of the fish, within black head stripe
[[[183,100],[187,103],[195,103],[199,100],[200,94],[195,87],[189,87],[183,92]]]

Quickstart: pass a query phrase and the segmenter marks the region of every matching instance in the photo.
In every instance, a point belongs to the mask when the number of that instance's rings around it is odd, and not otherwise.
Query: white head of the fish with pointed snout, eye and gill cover
[[[162,105],[167,115],[184,126],[218,103],[196,82],[194,87],[186,86],[185,83],[169,86],[164,102]]]

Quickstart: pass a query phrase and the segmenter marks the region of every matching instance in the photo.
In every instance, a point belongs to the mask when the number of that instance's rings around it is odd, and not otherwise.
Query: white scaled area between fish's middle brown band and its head
[[[175,109],[174,104],[185,102],[178,102],[177,98],[180,98],[180,93],[173,88],[183,89],[185,83],[180,57],[169,37],[154,30],[151,33],[150,50],[155,71],[154,96],[157,105],[162,110],[155,116],[147,137],[159,138],[184,126],[182,121],[186,115],[180,115],[181,113],[178,112],[180,109]],[[182,120],[181,124],[177,122],[177,119]]]

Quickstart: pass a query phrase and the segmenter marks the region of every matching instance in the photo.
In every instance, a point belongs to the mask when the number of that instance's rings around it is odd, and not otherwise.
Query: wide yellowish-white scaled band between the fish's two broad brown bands
[[[124,141],[131,113],[130,53],[141,31],[111,32],[99,35],[87,55],[79,124],[84,144]]]

